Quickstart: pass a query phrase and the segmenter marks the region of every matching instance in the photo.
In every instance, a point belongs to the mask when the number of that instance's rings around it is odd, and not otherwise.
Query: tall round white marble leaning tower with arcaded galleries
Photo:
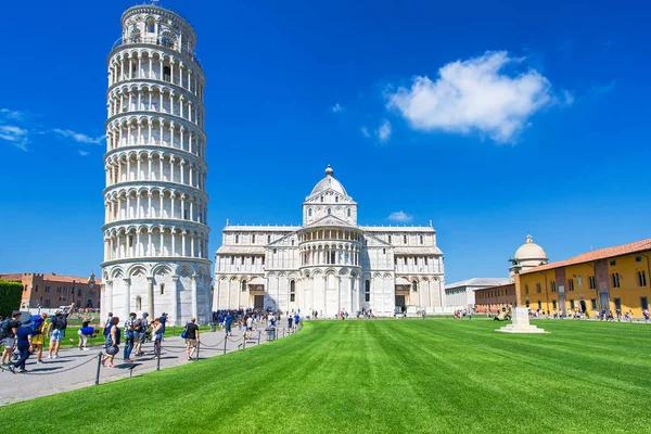
[[[129,8],[108,54],[102,312],[210,315],[205,77],[180,14]]]

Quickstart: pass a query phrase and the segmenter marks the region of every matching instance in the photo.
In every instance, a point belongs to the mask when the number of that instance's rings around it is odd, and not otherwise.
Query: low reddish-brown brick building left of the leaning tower
[[[94,276],[59,276],[38,272],[0,273],[0,280],[23,285],[22,309],[58,308],[73,302],[79,308],[100,307],[100,280]]]

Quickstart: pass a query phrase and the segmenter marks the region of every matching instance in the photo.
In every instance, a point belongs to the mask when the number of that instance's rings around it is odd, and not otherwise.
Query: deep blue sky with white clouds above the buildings
[[[328,163],[360,224],[432,219],[448,282],[507,276],[527,232],[552,260],[650,237],[641,3],[162,4],[207,77],[212,252],[227,218],[299,224]],[[130,5],[3,5],[0,272],[99,275],[105,61]]]

